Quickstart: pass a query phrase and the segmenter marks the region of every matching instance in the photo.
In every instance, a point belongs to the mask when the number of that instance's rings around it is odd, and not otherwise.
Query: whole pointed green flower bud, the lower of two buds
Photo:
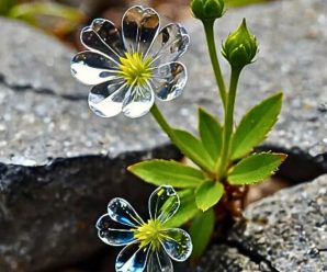
[[[232,67],[244,68],[252,63],[257,52],[257,38],[248,31],[244,19],[241,25],[227,37],[223,45],[223,55]]]

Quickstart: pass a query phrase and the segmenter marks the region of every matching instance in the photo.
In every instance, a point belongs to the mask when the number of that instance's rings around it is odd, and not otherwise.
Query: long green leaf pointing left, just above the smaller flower
[[[173,160],[147,160],[127,168],[144,181],[155,185],[196,188],[204,181],[203,172]]]

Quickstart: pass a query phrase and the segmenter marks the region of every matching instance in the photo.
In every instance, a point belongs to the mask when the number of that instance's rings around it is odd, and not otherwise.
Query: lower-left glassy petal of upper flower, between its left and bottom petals
[[[112,80],[94,86],[89,94],[90,109],[101,117],[112,117],[122,112],[128,87],[124,80]]]

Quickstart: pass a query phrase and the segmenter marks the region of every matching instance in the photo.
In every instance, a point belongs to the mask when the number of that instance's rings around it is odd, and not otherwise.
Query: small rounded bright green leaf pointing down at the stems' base
[[[195,202],[200,209],[205,212],[218,203],[224,194],[221,182],[205,181],[195,191]]]

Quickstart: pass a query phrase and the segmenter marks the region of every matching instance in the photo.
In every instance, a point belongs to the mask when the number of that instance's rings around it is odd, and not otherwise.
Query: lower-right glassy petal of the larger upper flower
[[[170,63],[154,70],[151,83],[158,99],[170,101],[182,93],[187,80],[187,68],[180,63]]]

